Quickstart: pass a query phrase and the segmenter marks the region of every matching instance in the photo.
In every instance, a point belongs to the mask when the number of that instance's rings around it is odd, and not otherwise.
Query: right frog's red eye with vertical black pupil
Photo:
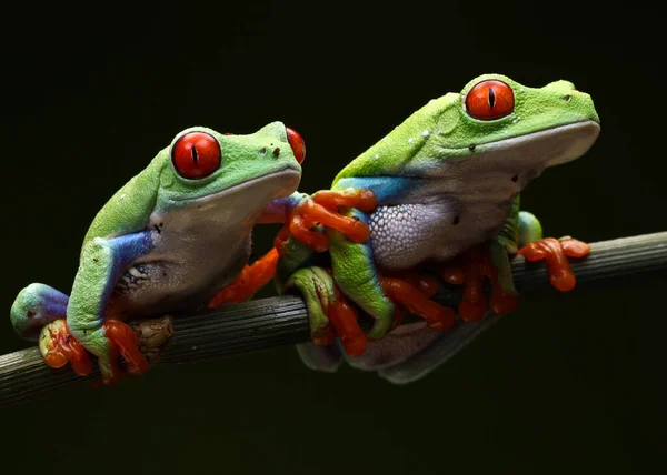
[[[514,111],[514,91],[501,81],[481,81],[466,95],[466,111],[478,120],[509,115]]]

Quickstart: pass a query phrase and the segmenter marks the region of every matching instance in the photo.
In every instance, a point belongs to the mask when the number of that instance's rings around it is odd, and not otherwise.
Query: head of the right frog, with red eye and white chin
[[[457,155],[465,156],[466,149],[477,155],[511,150],[551,166],[585,154],[600,131],[590,95],[568,81],[528,88],[485,74],[451,100],[455,107],[445,108],[438,124],[449,125],[441,146]]]

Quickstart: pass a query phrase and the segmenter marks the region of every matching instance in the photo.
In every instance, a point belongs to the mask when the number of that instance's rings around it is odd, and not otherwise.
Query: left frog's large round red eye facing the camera
[[[171,162],[182,178],[199,180],[220,168],[220,143],[206,132],[188,132],[171,148]]]

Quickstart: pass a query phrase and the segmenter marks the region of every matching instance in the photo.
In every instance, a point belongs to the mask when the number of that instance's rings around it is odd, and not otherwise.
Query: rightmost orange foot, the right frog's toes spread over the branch
[[[568,292],[575,289],[577,277],[567,257],[585,257],[589,252],[590,245],[566,236],[559,240],[541,239],[521,247],[517,254],[530,262],[546,260],[551,285],[561,292]]]

